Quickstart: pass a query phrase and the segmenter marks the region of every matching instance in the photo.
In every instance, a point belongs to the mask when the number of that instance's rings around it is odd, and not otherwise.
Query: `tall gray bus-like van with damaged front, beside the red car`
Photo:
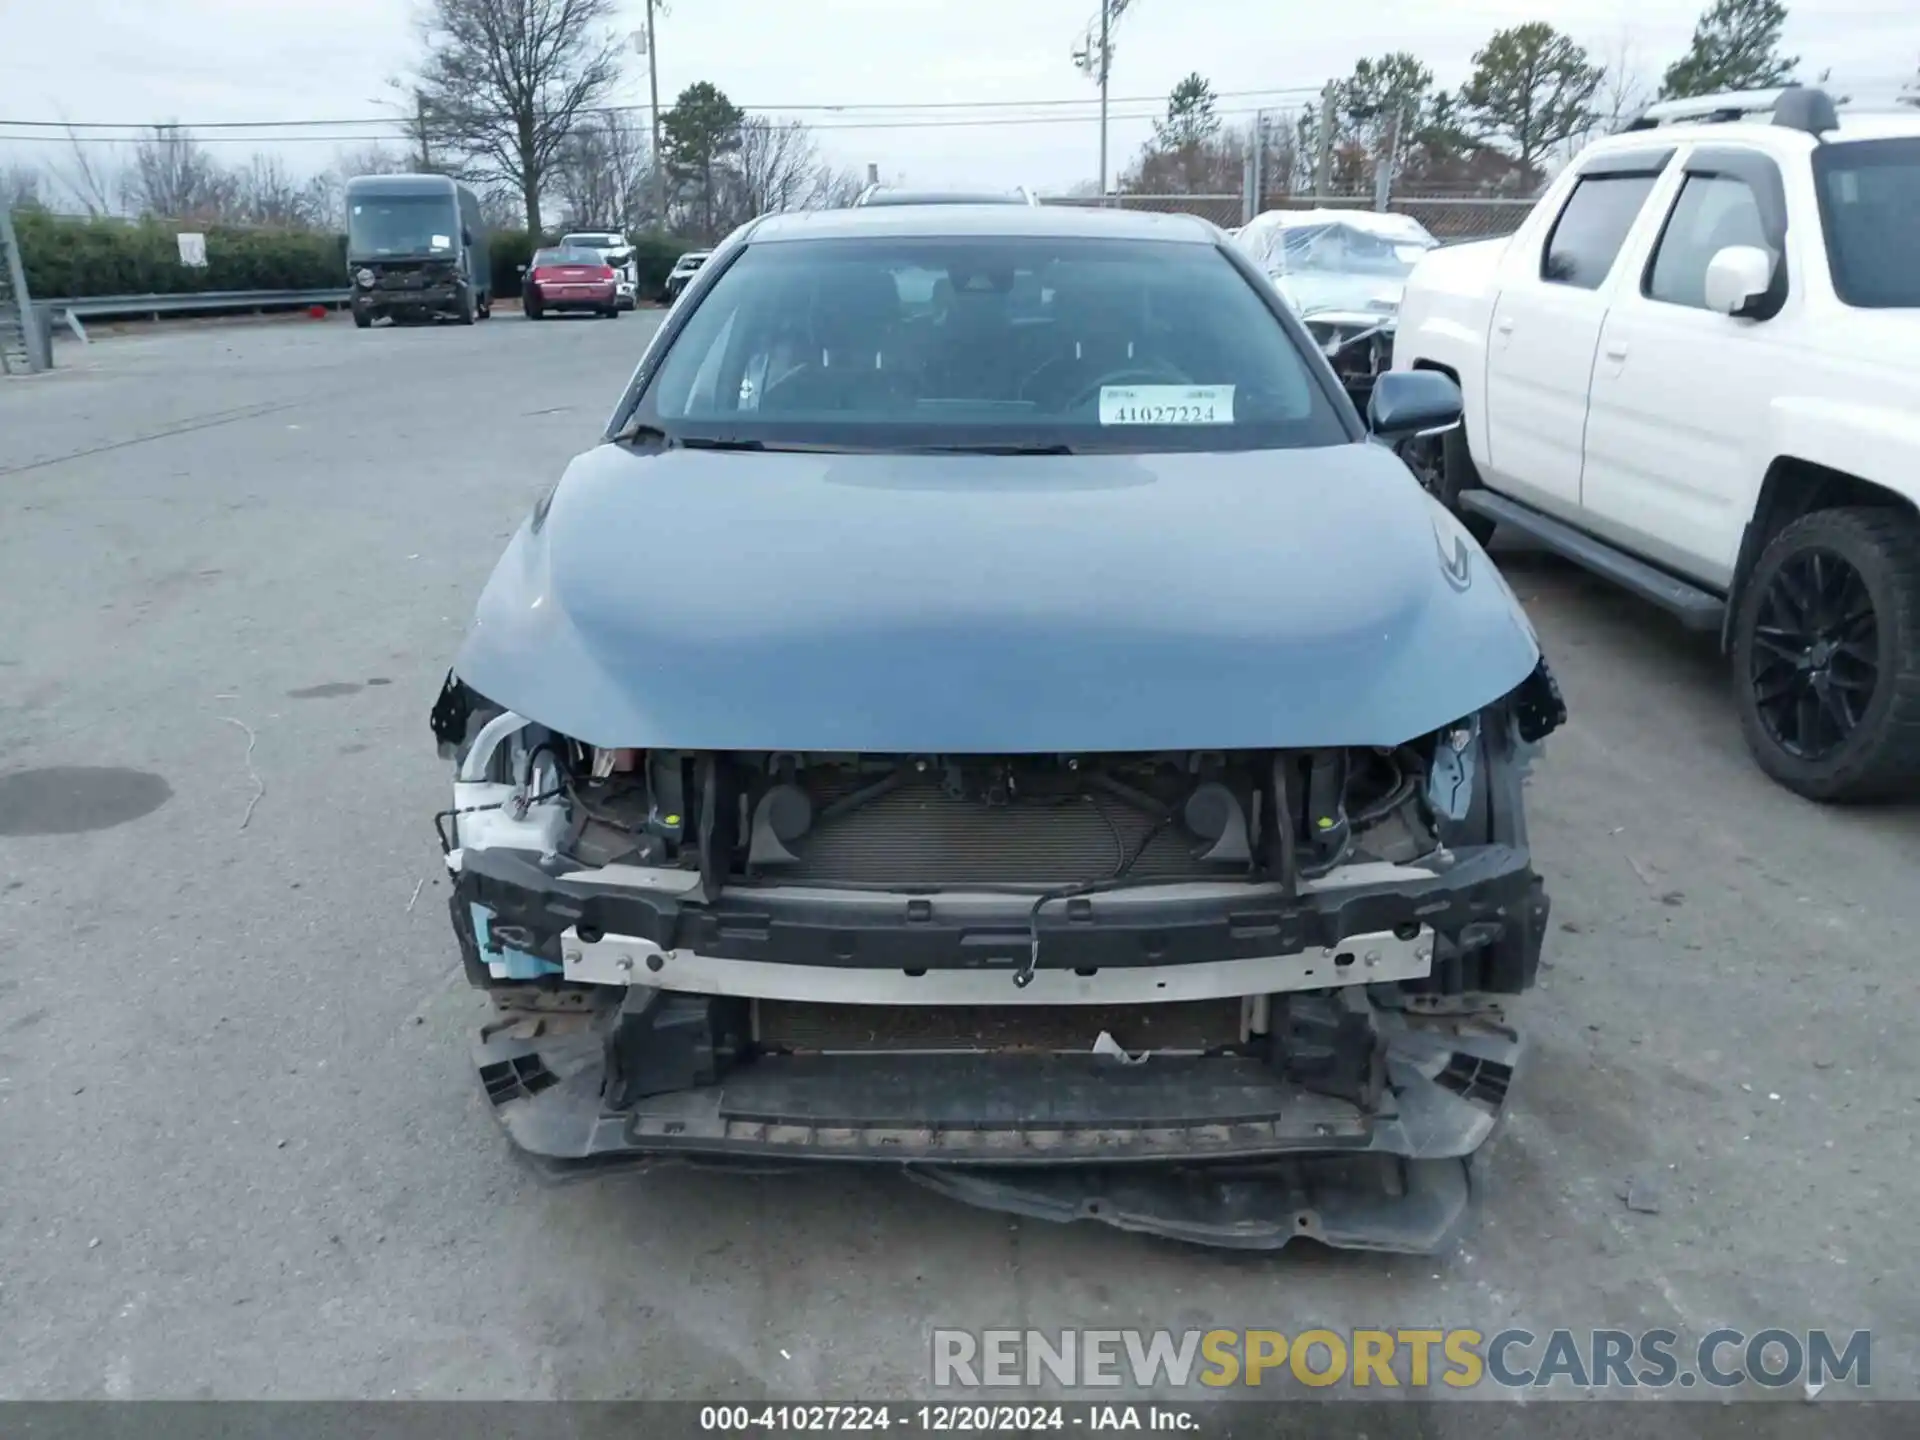
[[[493,313],[493,265],[474,192],[445,175],[348,180],[348,284],[353,324]]]

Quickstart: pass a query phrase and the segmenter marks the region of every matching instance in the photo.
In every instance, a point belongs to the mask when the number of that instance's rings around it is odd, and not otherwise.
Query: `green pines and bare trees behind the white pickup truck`
[[[1415,194],[1530,196],[1548,169],[1619,131],[1651,100],[1759,90],[1797,77],[1782,52],[1784,0],[1713,0],[1686,54],[1657,88],[1630,58],[1596,58],[1546,21],[1498,31],[1465,84],[1444,88],[1419,56],[1365,58],[1315,106],[1229,127],[1198,73],[1167,96],[1165,117],[1119,177],[1133,194],[1236,194],[1258,148],[1267,194],[1365,194],[1380,167]],[[1824,79],[1824,77],[1822,77]],[[1920,77],[1908,86],[1920,104]]]

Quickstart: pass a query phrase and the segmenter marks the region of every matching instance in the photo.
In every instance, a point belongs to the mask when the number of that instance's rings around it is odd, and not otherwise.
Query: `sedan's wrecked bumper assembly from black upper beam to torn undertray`
[[[1119,891],[1041,916],[993,895],[703,900],[662,872],[492,847],[455,849],[449,868],[468,975],[526,1006],[480,1039],[480,1079],[547,1175],[877,1164],[970,1204],[1240,1248],[1452,1242],[1521,1058],[1488,996],[1532,985],[1548,924],[1524,843],[1298,893]],[[1263,1023],[1144,1058],[780,1048],[760,1023],[770,1000],[879,1016],[1208,996],[1265,1006]]]

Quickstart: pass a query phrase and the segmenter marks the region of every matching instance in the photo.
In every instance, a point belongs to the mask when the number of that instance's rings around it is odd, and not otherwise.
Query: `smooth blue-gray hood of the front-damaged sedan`
[[[455,672],[601,747],[1396,745],[1538,660],[1390,451],[812,455],[605,444]]]

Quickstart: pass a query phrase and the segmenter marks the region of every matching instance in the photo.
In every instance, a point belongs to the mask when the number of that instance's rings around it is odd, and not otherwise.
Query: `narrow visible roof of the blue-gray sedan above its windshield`
[[[858,205],[854,209],[803,209],[768,215],[747,234],[749,244],[787,240],[851,240],[858,236],[1037,236],[1069,240],[1181,240],[1219,244],[1219,230],[1198,215],[1162,215],[1146,209],[1096,205]]]

